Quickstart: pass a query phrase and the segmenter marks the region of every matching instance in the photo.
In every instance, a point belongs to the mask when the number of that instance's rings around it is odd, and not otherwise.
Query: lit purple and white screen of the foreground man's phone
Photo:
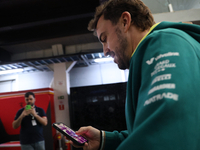
[[[72,129],[67,127],[66,125],[60,123],[60,124],[55,124],[58,128],[63,130],[65,133],[67,133],[69,136],[73,137],[76,141],[79,143],[85,143],[87,140],[83,138],[82,136],[77,135]]]

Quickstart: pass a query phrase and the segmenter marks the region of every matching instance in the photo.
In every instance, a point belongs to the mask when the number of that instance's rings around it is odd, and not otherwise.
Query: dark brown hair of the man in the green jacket
[[[96,8],[94,18],[88,24],[88,30],[95,31],[102,15],[105,20],[110,20],[113,25],[116,25],[125,11],[131,14],[132,24],[142,31],[155,24],[150,9],[141,0],[109,0]]]

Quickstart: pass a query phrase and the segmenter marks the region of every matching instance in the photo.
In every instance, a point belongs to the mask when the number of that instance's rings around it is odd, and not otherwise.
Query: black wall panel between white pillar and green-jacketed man
[[[126,82],[76,87],[70,93],[72,129],[90,125],[106,131],[126,130]]]

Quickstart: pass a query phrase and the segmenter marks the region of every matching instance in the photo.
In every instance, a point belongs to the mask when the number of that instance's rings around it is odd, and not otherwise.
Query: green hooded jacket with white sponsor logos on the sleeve
[[[104,150],[200,149],[200,26],[161,22],[130,60],[127,131]]]

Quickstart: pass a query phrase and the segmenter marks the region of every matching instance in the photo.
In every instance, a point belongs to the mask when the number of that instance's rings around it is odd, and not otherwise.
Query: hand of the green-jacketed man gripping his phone
[[[84,150],[98,150],[100,146],[100,130],[93,128],[91,126],[88,127],[81,127],[77,132],[77,135],[81,135],[85,137],[88,142],[85,143],[82,148]],[[74,145],[72,141],[70,143],[77,148],[80,148],[80,146]]]

